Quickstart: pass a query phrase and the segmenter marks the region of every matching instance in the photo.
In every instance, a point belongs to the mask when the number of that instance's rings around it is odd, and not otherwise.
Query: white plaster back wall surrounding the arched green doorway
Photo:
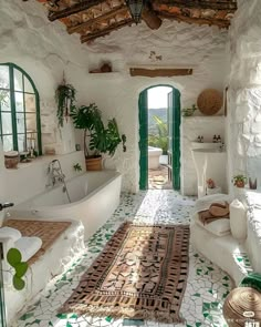
[[[169,84],[181,93],[181,108],[196,103],[206,88],[223,89],[227,69],[227,31],[218,28],[189,25],[164,21],[157,31],[144,23],[124,28],[108,37],[97,39],[90,50],[90,69],[109,61],[115,74],[90,74],[87,99],[96,102],[106,116],[116,116],[119,129],[127,135],[127,153],[117,151],[107,166],[124,174],[124,188],[137,191],[139,181],[138,151],[138,95],[152,85]],[[129,67],[185,67],[194,74],[176,78],[130,78]],[[196,135],[208,133],[209,126],[196,123],[192,129],[181,123],[181,185],[182,193],[196,194],[196,172],[190,153],[190,142]],[[206,130],[205,130],[206,127]],[[211,122],[218,133],[219,122]],[[185,176],[185,177],[182,177]]]

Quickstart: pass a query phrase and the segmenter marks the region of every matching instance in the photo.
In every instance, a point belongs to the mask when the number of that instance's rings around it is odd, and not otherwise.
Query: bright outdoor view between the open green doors
[[[173,188],[168,150],[168,86],[148,90],[148,188]]]

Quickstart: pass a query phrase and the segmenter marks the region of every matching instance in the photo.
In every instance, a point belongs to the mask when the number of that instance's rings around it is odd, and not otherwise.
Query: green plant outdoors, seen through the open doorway
[[[154,115],[154,121],[156,122],[157,134],[148,135],[148,145],[160,147],[163,150],[163,154],[167,154],[168,151],[168,126],[167,123],[164,122],[159,116]]]

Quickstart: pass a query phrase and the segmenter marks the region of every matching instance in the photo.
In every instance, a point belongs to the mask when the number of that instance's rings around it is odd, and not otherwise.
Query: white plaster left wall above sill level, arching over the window
[[[86,47],[70,37],[63,24],[51,24],[36,1],[0,0],[0,62],[13,62],[33,79],[41,100],[43,144],[52,144],[58,153],[72,152],[74,131],[70,123],[58,130],[54,93],[64,72],[77,98],[85,94]]]

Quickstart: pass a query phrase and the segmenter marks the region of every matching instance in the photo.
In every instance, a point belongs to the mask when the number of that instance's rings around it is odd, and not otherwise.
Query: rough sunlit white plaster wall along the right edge
[[[229,175],[258,177],[261,185],[261,6],[239,1],[230,28],[228,93]],[[232,186],[230,187],[232,192]]]

